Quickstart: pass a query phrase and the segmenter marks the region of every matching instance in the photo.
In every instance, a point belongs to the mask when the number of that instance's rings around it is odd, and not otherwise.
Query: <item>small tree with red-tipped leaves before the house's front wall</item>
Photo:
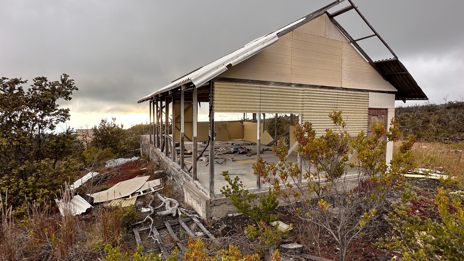
[[[288,158],[288,149],[280,139],[273,147],[278,163],[266,165],[260,157],[253,166],[263,183],[293,209],[296,217],[308,225],[325,230],[339,246],[339,260],[346,260],[350,242],[373,228],[376,213],[383,209],[385,196],[399,189],[403,175],[413,168],[411,147],[414,137],[407,137],[401,152],[386,163],[387,141],[397,141],[398,125],[386,131],[383,124],[373,124],[371,137],[364,131],[352,138],[341,111],[329,114],[334,129],[321,137],[311,123],[296,124],[297,152],[300,165]],[[386,137],[386,138],[385,138]],[[350,154],[356,163],[348,164]],[[349,170],[355,170],[353,174]],[[309,227],[309,226],[308,226]]]

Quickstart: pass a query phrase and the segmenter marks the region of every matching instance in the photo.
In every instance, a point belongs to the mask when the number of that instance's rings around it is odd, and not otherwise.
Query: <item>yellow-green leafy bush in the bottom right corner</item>
[[[464,209],[460,201],[449,202],[445,189],[437,190],[435,205],[441,220],[423,220],[414,213],[409,203],[417,195],[407,189],[401,204],[393,204],[394,211],[388,214],[395,235],[379,245],[399,251],[405,261],[464,260]]]

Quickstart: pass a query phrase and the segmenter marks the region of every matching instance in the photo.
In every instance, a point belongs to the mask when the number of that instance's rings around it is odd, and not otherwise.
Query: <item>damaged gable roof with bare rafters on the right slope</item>
[[[251,41],[250,43],[246,44],[244,47],[239,48],[238,50],[236,50],[234,52],[231,52],[231,53],[227,54],[226,56],[223,56],[223,57],[213,61],[212,63],[210,63],[208,65],[200,67],[197,70],[195,70],[193,72],[190,72],[187,75],[185,75],[185,76],[183,76],[183,77],[181,77],[179,79],[176,79],[171,84],[169,84],[169,85],[161,88],[160,90],[155,91],[155,92],[153,92],[153,93],[139,99],[137,102],[138,103],[145,102],[147,100],[152,99],[157,94],[160,94],[160,93],[163,93],[165,91],[169,91],[169,90],[178,88],[179,86],[185,85],[185,84],[191,84],[191,85],[194,85],[195,87],[200,87],[201,85],[204,85],[209,80],[211,80],[214,77],[218,76],[222,72],[225,72],[227,70],[228,66],[236,65],[236,64],[250,58],[254,54],[256,54],[256,53],[260,52],[261,50],[263,50],[264,48],[266,48],[266,47],[274,44],[275,42],[277,42],[277,40],[280,37],[282,37],[283,35],[285,35],[287,33],[290,33],[291,31],[295,30],[296,28],[298,28],[300,26],[303,26],[304,24],[310,22],[311,20],[316,19],[317,17],[323,15],[324,13],[327,13],[328,15],[330,15],[327,12],[327,10],[329,10],[332,7],[335,7],[336,5],[342,3],[343,1],[344,0],[336,0],[336,1],[332,2],[329,5],[327,5],[325,7],[322,7],[320,9],[314,11],[313,13],[310,13],[310,14],[304,16],[301,19],[296,20],[293,23],[290,23],[287,26],[284,26],[284,27],[282,27],[282,28],[280,28],[280,29],[278,29],[276,31],[273,31],[273,32],[271,32],[269,34],[266,34],[266,35],[264,35],[264,36],[262,36],[262,37],[260,37],[258,39],[255,39],[255,40]],[[333,20],[333,16],[339,15],[339,14],[344,13],[344,12],[347,12],[347,11],[349,11],[351,9],[356,9],[356,11],[359,13],[359,10],[357,10],[357,8],[354,7],[353,2],[351,0],[348,0],[348,1],[350,2],[351,6],[344,7],[342,9],[340,9],[339,11],[334,12],[332,14],[331,20]],[[359,14],[364,19],[362,14],[361,13],[359,13]],[[367,20],[365,20],[365,21],[367,23]],[[370,26],[370,24],[368,24],[368,26]],[[341,32],[345,36],[347,36],[347,33],[340,27],[337,26],[337,28],[341,29]],[[371,27],[371,29],[373,29],[373,28]],[[374,29],[373,29],[373,31],[375,32]],[[375,35],[378,36],[378,34],[376,32],[375,32]],[[380,38],[380,36],[378,36],[378,37]],[[349,35],[347,36],[347,38],[350,39]],[[381,40],[383,41],[383,39],[381,39]],[[360,50],[361,47],[359,47],[356,44],[355,40],[351,39],[351,43],[358,49],[358,51],[361,52],[361,54],[363,54],[363,55],[365,54],[365,52],[362,49]],[[387,46],[387,48],[391,51],[390,47]],[[393,51],[392,51],[392,53],[393,53]],[[393,55],[394,55],[394,53],[393,53]],[[396,61],[394,64],[389,62],[388,60],[387,60],[387,62],[384,60],[384,61],[378,61],[378,62],[374,63],[374,62],[372,62],[372,60],[370,60],[370,58],[368,56],[367,57],[366,56],[367,56],[367,54],[364,55],[364,57],[369,61],[369,63],[374,67],[374,69],[376,69],[377,72],[379,72],[379,74],[383,78],[385,78],[388,82],[390,82],[398,90],[398,93],[401,94],[401,95],[396,96],[397,99],[401,99],[403,101],[405,101],[406,99],[428,99],[425,96],[424,92],[420,89],[419,85],[417,85],[415,80],[409,74],[409,72],[407,72],[404,65],[402,65],[400,63],[400,61],[396,58],[396,55],[394,55],[395,56],[394,59]],[[379,65],[377,65],[377,63]],[[383,65],[381,65],[382,63],[383,63]],[[393,67],[390,68],[389,66],[393,66],[396,69],[402,68],[401,72],[400,73],[391,73],[391,72],[396,72],[398,70],[392,71]],[[384,70],[385,72],[382,73],[381,70]]]

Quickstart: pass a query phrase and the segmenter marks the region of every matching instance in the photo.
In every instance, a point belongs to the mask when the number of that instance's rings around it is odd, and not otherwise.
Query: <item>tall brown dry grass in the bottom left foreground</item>
[[[69,195],[69,194],[68,194]],[[63,195],[67,200],[66,195]],[[0,260],[101,260],[104,246],[123,244],[135,208],[97,208],[91,214],[61,216],[50,204],[28,204],[24,218],[1,200]]]

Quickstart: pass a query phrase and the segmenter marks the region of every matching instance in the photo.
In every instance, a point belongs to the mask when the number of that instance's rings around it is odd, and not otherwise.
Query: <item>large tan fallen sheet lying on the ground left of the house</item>
[[[95,198],[93,201],[94,203],[106,202],[116,198],[126,197],[142,188],[148,178],[149,176],[140,176],[122,181],[110,189],[94,193],[90,196]]]

